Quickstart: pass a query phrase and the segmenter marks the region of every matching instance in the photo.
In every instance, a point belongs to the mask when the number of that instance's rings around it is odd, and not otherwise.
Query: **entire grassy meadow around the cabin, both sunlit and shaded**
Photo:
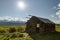
[[[60,25],[56,25],[56,32],[47,34],[25,32],[25,26],[0,26],[0,40],[60,40]]]

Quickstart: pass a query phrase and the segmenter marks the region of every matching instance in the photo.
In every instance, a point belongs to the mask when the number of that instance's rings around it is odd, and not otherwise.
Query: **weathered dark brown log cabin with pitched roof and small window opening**
[[[26,32],[27,33],[46,33],[55,32],[55,23],[49,19],[32,16],[26,22]]]

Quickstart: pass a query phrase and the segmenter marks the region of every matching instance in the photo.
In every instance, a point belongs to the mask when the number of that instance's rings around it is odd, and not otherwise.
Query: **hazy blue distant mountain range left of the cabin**
[[[0,25],[25,25],[25,21],[6,21],[6,20],[0,20]]]

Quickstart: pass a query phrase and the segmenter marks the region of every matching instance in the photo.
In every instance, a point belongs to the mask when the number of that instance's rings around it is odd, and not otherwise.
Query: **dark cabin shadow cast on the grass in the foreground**
[[[29,34],[33,40],[60,40],[60,32],[49,32],[44,34]]]

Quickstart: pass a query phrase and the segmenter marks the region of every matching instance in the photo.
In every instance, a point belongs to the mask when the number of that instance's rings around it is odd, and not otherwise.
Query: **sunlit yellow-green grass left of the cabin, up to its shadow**
[[[9,33],[9,28],[15,28],[16,32]],[[0,26],[0,40],[32,40],[32,38],[25,33],[25,26]],[[1,33],[4,32],[4,33]],[[23,31],[23,32],[21,32]]]

